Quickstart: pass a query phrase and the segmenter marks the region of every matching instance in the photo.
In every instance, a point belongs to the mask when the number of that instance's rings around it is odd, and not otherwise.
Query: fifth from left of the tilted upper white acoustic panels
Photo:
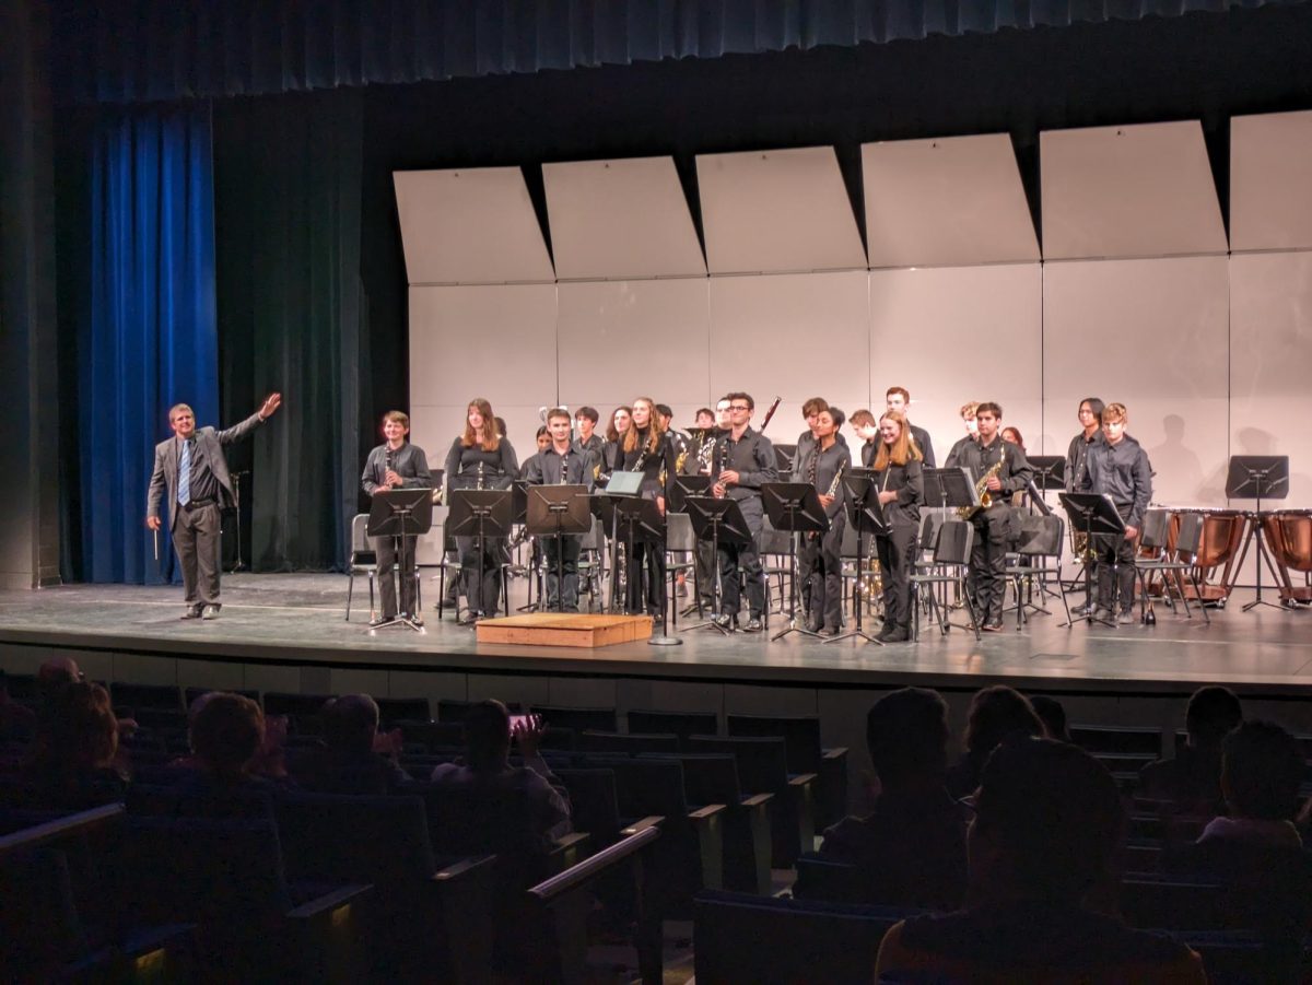
[[[1198,121],[1039,135],[1047,260],[1225,253]]]

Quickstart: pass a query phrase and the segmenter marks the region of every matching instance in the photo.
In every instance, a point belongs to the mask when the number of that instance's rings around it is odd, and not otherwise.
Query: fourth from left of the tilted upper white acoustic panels
[[[862,144],[870,266],[1039,258],[1006,134]]]

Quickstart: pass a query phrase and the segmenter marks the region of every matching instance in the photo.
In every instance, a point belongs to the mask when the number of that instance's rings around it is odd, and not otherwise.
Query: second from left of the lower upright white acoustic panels
[[[560,395],[598,411],[638,396],[706,403],[707,285],[705,277],[560,285]]]

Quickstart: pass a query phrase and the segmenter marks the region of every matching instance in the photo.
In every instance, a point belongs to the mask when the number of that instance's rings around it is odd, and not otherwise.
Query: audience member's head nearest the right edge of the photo
[[[1231,817],[1290,821],[1299,811],[1303,754],[1271,721],[1245,721],[1221,742],[1221,792]]]

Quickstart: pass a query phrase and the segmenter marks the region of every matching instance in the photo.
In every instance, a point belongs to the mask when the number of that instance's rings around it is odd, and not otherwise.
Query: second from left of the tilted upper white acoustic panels
[[[560,279],[706,274],[672,157],[543,164]]]

